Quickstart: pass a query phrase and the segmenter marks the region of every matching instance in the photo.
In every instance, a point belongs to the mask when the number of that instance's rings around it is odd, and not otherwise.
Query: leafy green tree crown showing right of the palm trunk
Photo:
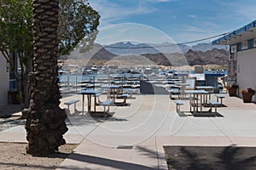
[[[92,47],[99,20],[87,0],[60,0],[59,53],[69,54],[81,42]]]

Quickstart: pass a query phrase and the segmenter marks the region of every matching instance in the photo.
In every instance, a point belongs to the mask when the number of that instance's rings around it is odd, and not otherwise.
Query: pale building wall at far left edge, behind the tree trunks
[[[0,53],[0,105],[8,104],[9,66]]]

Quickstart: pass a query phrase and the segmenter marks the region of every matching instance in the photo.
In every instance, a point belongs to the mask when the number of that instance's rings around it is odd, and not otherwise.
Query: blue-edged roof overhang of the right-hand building
[[[217,40],[212,42],[213,45],[227,45],[227,44],[234,44],[241,40],[241,37],[247,37],[248,34],[253,33],[255,34],[256,31],[256,20],[253,20],[247,26],[242,26],[240,29],[236,31],[231,31],[229,34],[225,35],[224,37],[220,37]],[[250,35],[249,35],[250,36]]]

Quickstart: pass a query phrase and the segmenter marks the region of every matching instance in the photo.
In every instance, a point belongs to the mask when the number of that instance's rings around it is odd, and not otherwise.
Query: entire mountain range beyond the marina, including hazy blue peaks
[[[132,65],[132,61],[135,62],[135,60],[138,60],[136,63],[143,65],[146,62],[143,58],[151,60],[155,65],[226,65],[229,54],[225,48],[225,46],[213,46],[210,43],[189,47],[170,42],[161,44],[118,42],[103,47],[101,44],[95,44],[86,52],[83,52],[83,48],[80,47],[68,58],[83,59],[86,65],[104,65],[109,61],[114,61],[112,62],[114,65],[120,62]]]

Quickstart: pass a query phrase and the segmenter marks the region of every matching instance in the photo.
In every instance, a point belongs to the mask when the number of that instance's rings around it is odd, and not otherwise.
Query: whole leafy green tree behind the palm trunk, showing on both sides
[[[69,54],[81,40],[89,47],[99,25],[100,15],[87,0],[60,0],[58,26],[59,54]],[[29,105],[27,76],[32,71],[32,0],[0,1],[0,51],[14,72],[21,107]],[[18,54],[22,86],[12,53]]]

